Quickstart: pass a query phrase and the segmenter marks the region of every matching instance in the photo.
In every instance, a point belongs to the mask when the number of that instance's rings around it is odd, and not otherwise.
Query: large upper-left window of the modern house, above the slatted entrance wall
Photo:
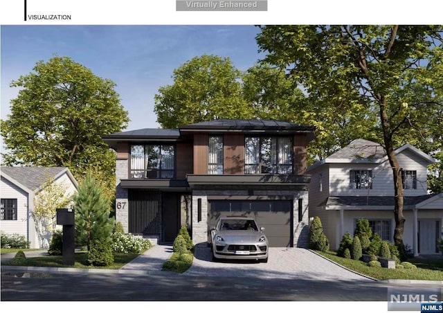
[[[174,145],[132,145],[131,178],[172,179]]]

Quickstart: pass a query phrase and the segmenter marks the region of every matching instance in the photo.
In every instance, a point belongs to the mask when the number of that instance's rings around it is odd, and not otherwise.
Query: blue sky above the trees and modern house
[[[125,130],[160,127],[154,95],[172,84],[172,72],[192,57],[229,57],[242,71],[260,55],[255,26],[1,26],[1,119],[18,88],[10,82],[27,75],[39,60],[71,57],[102,78],[116,83],[128,111]]]

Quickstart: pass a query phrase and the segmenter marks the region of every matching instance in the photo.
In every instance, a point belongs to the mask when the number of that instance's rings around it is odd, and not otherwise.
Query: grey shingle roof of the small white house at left
[[[20,188],[26,191],[35,192],[42,187],[48,177],[57,179],[67,172],[73,184],[77,186],[77,181],[69,172],[68,168],[62,167],[35,167],[35,166],[2,166],[1,176],[5,177]]]

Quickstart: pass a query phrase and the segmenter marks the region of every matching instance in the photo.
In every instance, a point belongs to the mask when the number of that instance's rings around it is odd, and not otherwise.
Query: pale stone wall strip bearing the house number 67
[[[129,202],[127,189],[121,188],[120,179],[128,178],[128,162],[127,159],[116,161],[116,221],[122,223],[125,233],[128,232]]]

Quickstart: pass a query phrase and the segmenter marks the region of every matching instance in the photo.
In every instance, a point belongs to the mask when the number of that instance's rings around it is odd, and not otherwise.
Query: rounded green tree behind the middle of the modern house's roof
[[[159,88],[154,111],[165,128],[217,118],[251,118],[242,97],[241,72],[217,55],[193,57],[174,70],[174,83]]]

